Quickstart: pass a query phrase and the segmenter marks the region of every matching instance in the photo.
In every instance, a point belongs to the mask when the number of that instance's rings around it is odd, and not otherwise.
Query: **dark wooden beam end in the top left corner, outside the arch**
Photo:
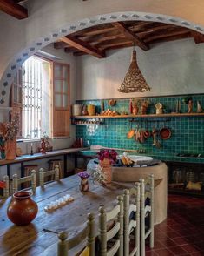
[[[0,0],[0,10],[18,19],[28,17],[28,10],[13,0]]]

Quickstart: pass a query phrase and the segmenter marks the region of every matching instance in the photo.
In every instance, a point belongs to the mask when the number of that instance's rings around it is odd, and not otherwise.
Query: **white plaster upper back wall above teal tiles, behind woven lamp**
[[[204,44],[193,39],[154,44],[137,51],[137,62],[151,91],[117,91],[130,63],[132,48],[109,51],[108,57],[77,57],[77,99],[128,98],[204,93]]]

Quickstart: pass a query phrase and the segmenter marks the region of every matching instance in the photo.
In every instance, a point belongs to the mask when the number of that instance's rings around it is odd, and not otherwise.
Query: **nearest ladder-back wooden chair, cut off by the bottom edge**
[[[79,246],[87,239],[87,246],[85,250],[88,250],[89,256],[95,255],[95,218],[94,214],[89,213],[87,217],[87,225],[82,229],[81,232],[78,232],[75,237],[68,239],[68,233],[59,232],[58,238],[58,256],[67,256],[69,255],[69,250]],[[78,253],[77,253],[78,254]],[[80,252],[79,252],[80,254]]]

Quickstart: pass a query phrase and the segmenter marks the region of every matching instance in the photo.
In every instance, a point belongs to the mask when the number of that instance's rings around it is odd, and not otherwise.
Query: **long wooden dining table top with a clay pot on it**
[[[87,220],[87,214],[95,214],[98,222],[98,208],[110,210],[116,203],[116,196],[122,194],[125,186],[111,184],[108,187],[89,180],[89,192],[80,192],[79,177],[70,176],[37,187],[32,196],[38,205],[36,219],[28,226],[16,226],[7,217],[11,197],[0,203],[0,255],[56,255],[57,232],[69,232],[74,236]],[[44,207],[56,199],[69,194],[74,201],[55,211],[46,212]]]

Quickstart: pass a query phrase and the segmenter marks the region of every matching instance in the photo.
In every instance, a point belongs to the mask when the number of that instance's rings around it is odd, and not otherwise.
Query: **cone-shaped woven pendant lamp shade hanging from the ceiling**
[[[149,91],[145,78],[142,76],[141,71],[136,62],[136,51],[132,53],[131,64],[129,65],[128,73],[126,74],[121,87],[118,89],[120,92],[144,92]]]

